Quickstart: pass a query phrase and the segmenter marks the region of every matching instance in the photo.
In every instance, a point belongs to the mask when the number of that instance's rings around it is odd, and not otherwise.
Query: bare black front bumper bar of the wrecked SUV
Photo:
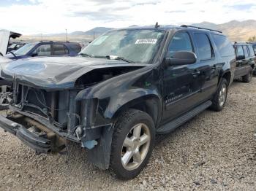
[[[48,153],[50,152],[50,140],[45,139],[37,134],[30,132],[23,125],[7,119],[0,115],[0,127],[4,130],[17,136],[20,141],[34,149],[36,152]]]

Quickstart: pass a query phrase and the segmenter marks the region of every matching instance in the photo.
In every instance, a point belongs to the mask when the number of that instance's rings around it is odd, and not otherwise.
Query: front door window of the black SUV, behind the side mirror
[[[187,32],[179,32],[173,36],[173,39],[170,41],[166,57],[173,58],[174,53],[177,51],[193,52],[191,39]]]

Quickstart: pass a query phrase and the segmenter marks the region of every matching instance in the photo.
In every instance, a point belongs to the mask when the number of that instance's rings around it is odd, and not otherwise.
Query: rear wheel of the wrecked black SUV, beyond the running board
[[[225,92],[223,90],[225,88]],[[217,92],[214,95],[214,98],[212,100],[211,109],[220,112],[224,108],[226,101],[227,101],[227,90],[228,90],[228,83],[227,79],[222,78],[219,82],[219,87],[217,89]]]

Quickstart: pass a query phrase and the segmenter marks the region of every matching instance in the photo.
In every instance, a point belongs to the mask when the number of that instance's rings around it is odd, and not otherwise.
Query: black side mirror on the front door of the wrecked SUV
[[[165,58],[167,65],[181,66],[192,64],[197,61],[197,56],[194,52],[189,51],[178,51],[175,52],[172,58]]]

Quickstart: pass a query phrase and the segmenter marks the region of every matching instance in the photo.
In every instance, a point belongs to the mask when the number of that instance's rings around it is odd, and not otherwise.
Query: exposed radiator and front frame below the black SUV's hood
[[[42,141],[35,139],[34,135],[28,137],[26,141],[36,145],[32,148],[37,152],[60,151],[66,140],[81,142],[82,147],[92,149],[87,141],[99,139],[100,135],[99,129],[91,130],[97,101],[75,101],[78,91],[46,91],[17,83],[14,85],[10,112],[6,118],[15,122],[11,126],[12,130],[18,131],[18,135],[20,129],[23,132],[23,128],[26,128],[37,135],[37,139],[49,139],[45,144],[50,145],[42,145]],[[94,144],[97,143],[94,141]]]

